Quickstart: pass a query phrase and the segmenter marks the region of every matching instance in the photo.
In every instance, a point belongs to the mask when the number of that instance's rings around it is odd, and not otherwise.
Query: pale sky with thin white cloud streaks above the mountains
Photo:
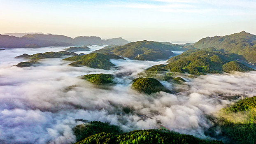
[[[0,33],[196,42],[255,26],[256,0],[0,0]]]

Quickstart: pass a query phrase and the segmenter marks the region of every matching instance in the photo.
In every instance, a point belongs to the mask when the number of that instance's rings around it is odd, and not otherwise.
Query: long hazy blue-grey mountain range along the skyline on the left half
[[[101,39],[100,37],[79,36],[74,39],[65,35],[44,35],[44,34],[26,34],[22,37],[9,35],[0,35],[0,48],[39,48],[46,46],[74,46],[74,45],[124,45],[129,43],[127,40],[119,37],[112,39]]]

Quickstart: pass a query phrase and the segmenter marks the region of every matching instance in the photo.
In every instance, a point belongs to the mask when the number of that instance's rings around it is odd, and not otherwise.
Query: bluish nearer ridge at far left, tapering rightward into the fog
[[[67,42],[55,42],[50,40],[34,39],[30,37],[14,37],[0,35],[0,48],[39,48],[47,46],[70,46]]]

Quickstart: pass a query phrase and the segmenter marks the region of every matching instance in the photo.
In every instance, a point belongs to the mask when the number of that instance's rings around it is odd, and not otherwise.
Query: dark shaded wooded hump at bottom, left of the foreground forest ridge
[[[92,121],[89,123],[77,125],[72,130],[74,135],[77,137],[77,142],[100,132],[113,134],[122,132],[118,126],[109,125],[109,123],[102,123],[100,121]]]

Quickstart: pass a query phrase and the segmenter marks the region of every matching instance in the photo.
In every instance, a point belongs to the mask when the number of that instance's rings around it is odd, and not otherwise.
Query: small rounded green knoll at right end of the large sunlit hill
[[[230,72],[230,71],[246,72],[246,71],[252,71],[252,70],[254,69],[249,68],[246,65],[243,65],[242,63],[237,63],[235,61],[230,61],[229,63],[225,63],[223,65],[224,72]]]

